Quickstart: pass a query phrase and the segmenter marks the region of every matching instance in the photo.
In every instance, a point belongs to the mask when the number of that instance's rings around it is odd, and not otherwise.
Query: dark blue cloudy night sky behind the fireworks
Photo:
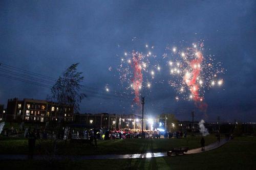
[[[144,94],[146,114],[174,113],[190,120],[195,110],[196,120],[216,121],[220,116],[222,121],[255,122],[255,7],[255,1],[233,0],[0,1],[0,62],[53,78],[79,62],[83,85],[104,89],[108,84],[111,91],[127,91],[120,86],[117,55],[150,44],[161,60],[167,45],[204,40],[205,53],[215,55],[226,69],[223,86],[205,92],[206,112],[194,102],[177,102],[166,74],[166,83]],[[0,103],[5,105],[14,97],[44,100],[50,92],[8,78],[0,77],[0,82]],[[80,112],[139,113],[131,104],[88,95]]]

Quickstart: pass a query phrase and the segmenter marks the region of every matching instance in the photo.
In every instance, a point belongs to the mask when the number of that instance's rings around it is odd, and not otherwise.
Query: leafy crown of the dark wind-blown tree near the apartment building
[[[82,72],[77,71],[78,64],[72,64],[62,73],[52,87],[51,95],[48,98],[59,105],[73,106],[74,111],[79,110],[79,104],[86,97],[86,94],[80,93],[83,76],[81,76]]]

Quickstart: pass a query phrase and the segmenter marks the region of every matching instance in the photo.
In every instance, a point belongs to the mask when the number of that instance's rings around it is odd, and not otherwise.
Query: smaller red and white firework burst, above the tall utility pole
[[[146,50],[149,46],[145,45]],[[154,46],[151,47],[152,49]],[[156,56],[151,52],[125,52],[124,58],[121,58],[121,64],[117,69],[120,74],[122,85],[126,85],[126,89],[134,94],[133,101],[140,105],[141,91],[149,92],[152,87],[152,81],[161,70],[157,64]],[[152,64],[153,63],[153,64]],[[132,105],[133,106],[133,105]]]

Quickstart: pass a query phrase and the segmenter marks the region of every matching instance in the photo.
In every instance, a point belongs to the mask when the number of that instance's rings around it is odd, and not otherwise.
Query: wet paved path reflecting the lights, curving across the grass
[[[205,151],[214,150],[216,148],[221,147],[227,141],[222,139],[220,142],[215,142],[207,145],[205,147]],[[185,154],[197,154],[202,151],[201,148],[188,150]],[[89,160],[89,159],[134,159],[134,158],[153,158],[153,157],[164,157],[167,156],[167,152],[158,152],[158,153],[145,153],[145,154],[127,154],[127,155],[87,155],[87,156],[80,156],[80,155],[34,155],[34,160],[65,160],[65,159],[72,159],[72,160]],[[0,155],[0,160],[27,160],[27,155]]]

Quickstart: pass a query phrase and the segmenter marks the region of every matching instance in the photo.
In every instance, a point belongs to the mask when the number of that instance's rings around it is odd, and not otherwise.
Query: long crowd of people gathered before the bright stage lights
[[[90,138],[97,138],[101,140],[109,140],[109,139],[126,139],[126,138],[160,138],[162,135],[164,138],[182,138],[186,137],[187,133],[181,131],[174,131],[174,132],[160,132],[159,130],[150,131],[145,130],[141,131],[139,129],[120,129],[120,130],[104,130],[104,129],[71,129],[63,128],[59,132],[46,130],[44,128],[25,128],[24,137],[28,138],[31,132],[34,133],[37,139],[90,139]],[[14,135],[18,134],[18,130],[11,128],[4,132],[4,134]]]

